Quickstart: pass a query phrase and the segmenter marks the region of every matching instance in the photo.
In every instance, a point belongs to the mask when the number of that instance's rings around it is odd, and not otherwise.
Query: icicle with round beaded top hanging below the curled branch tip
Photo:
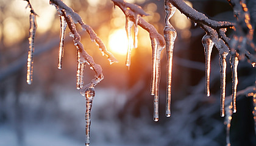
[[[90,127],[91,127],[91,106],[95,95],[94,88],[85,90],[86,110],[85,110],[85,145],[90,144]]]

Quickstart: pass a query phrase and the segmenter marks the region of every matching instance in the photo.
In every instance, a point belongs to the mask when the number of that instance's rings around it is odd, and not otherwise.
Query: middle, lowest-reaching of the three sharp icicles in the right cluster
[[[224,117],[225,115],[225,90],[226,90],[226,57],[228,53],[223,52],[222,54],[219,54],[219,66],[221,67],[221,117]]]

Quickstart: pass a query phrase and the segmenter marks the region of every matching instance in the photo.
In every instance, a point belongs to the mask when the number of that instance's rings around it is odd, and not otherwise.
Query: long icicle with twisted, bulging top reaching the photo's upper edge
[[[176,12],[174,7],[169,1],[165,1],[165,43],[166,43],[166,55],[167,55],[167,89],[166,89],[166,117],[171,116],[171,77],[172,77],[172,56],[174,41],[176,40],[177,32],[169,23],[169,19]]]

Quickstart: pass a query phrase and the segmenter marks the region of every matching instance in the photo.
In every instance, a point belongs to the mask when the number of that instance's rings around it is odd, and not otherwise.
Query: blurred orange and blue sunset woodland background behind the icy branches
[[[102,66],[104,80],[95,90],[91,113],[91,145],[226,145],[225,118],[219,114],[220,76],[218,51],[213,48],[211,96],[205,96],[205,57],[201,43],[204,30],[179,10],[171,18],[177,30],[172,71],[171,117],[165,117],[166,53],[162,52],[160,119],[153,120],[151,41],[139,28],[138,48],[132,50],[130,69],[125,66],[127,36],[125,16],[110,0],[63,0],[90,25],[119,63],[110,65],[89,35],[77,29],[85,50]],[[129,0],[150,16],[144,19],[163,35],[163,0]],[[27,2],[0,0],[0,145],[84,145],[85,99],[76,89],[76,48],[66,29],[63,68],[57,68],[60,22],[49,1],[32,0],[37,17],[34,77],[26,83],[29,50]],[[218,21],[235,21],[225,0],[192,0],[187,4]],[[248,0],[252,24],[256,2]],[[232,32],[229,32],[229,35]],[[255,40],[255,37],[254,37]],[[238,65],[238,91],[255,86],[255,68],[246,60]],[[94,77],[85,71],[85,83]],[[232,94],[227,57],[226,96]],[[232,145],[256,145],[252,97],[238,96],[233,114]]]

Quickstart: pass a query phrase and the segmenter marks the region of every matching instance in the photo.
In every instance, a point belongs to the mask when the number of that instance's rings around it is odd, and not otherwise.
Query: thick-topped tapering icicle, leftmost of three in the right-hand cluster
[[[205,92],[206,96],[210,96],[210,62],[211,54],[213,49],[213,41],[210,38],[210,35],[205,34],[202,38],[202,44],[204,46],[205,53]]]

